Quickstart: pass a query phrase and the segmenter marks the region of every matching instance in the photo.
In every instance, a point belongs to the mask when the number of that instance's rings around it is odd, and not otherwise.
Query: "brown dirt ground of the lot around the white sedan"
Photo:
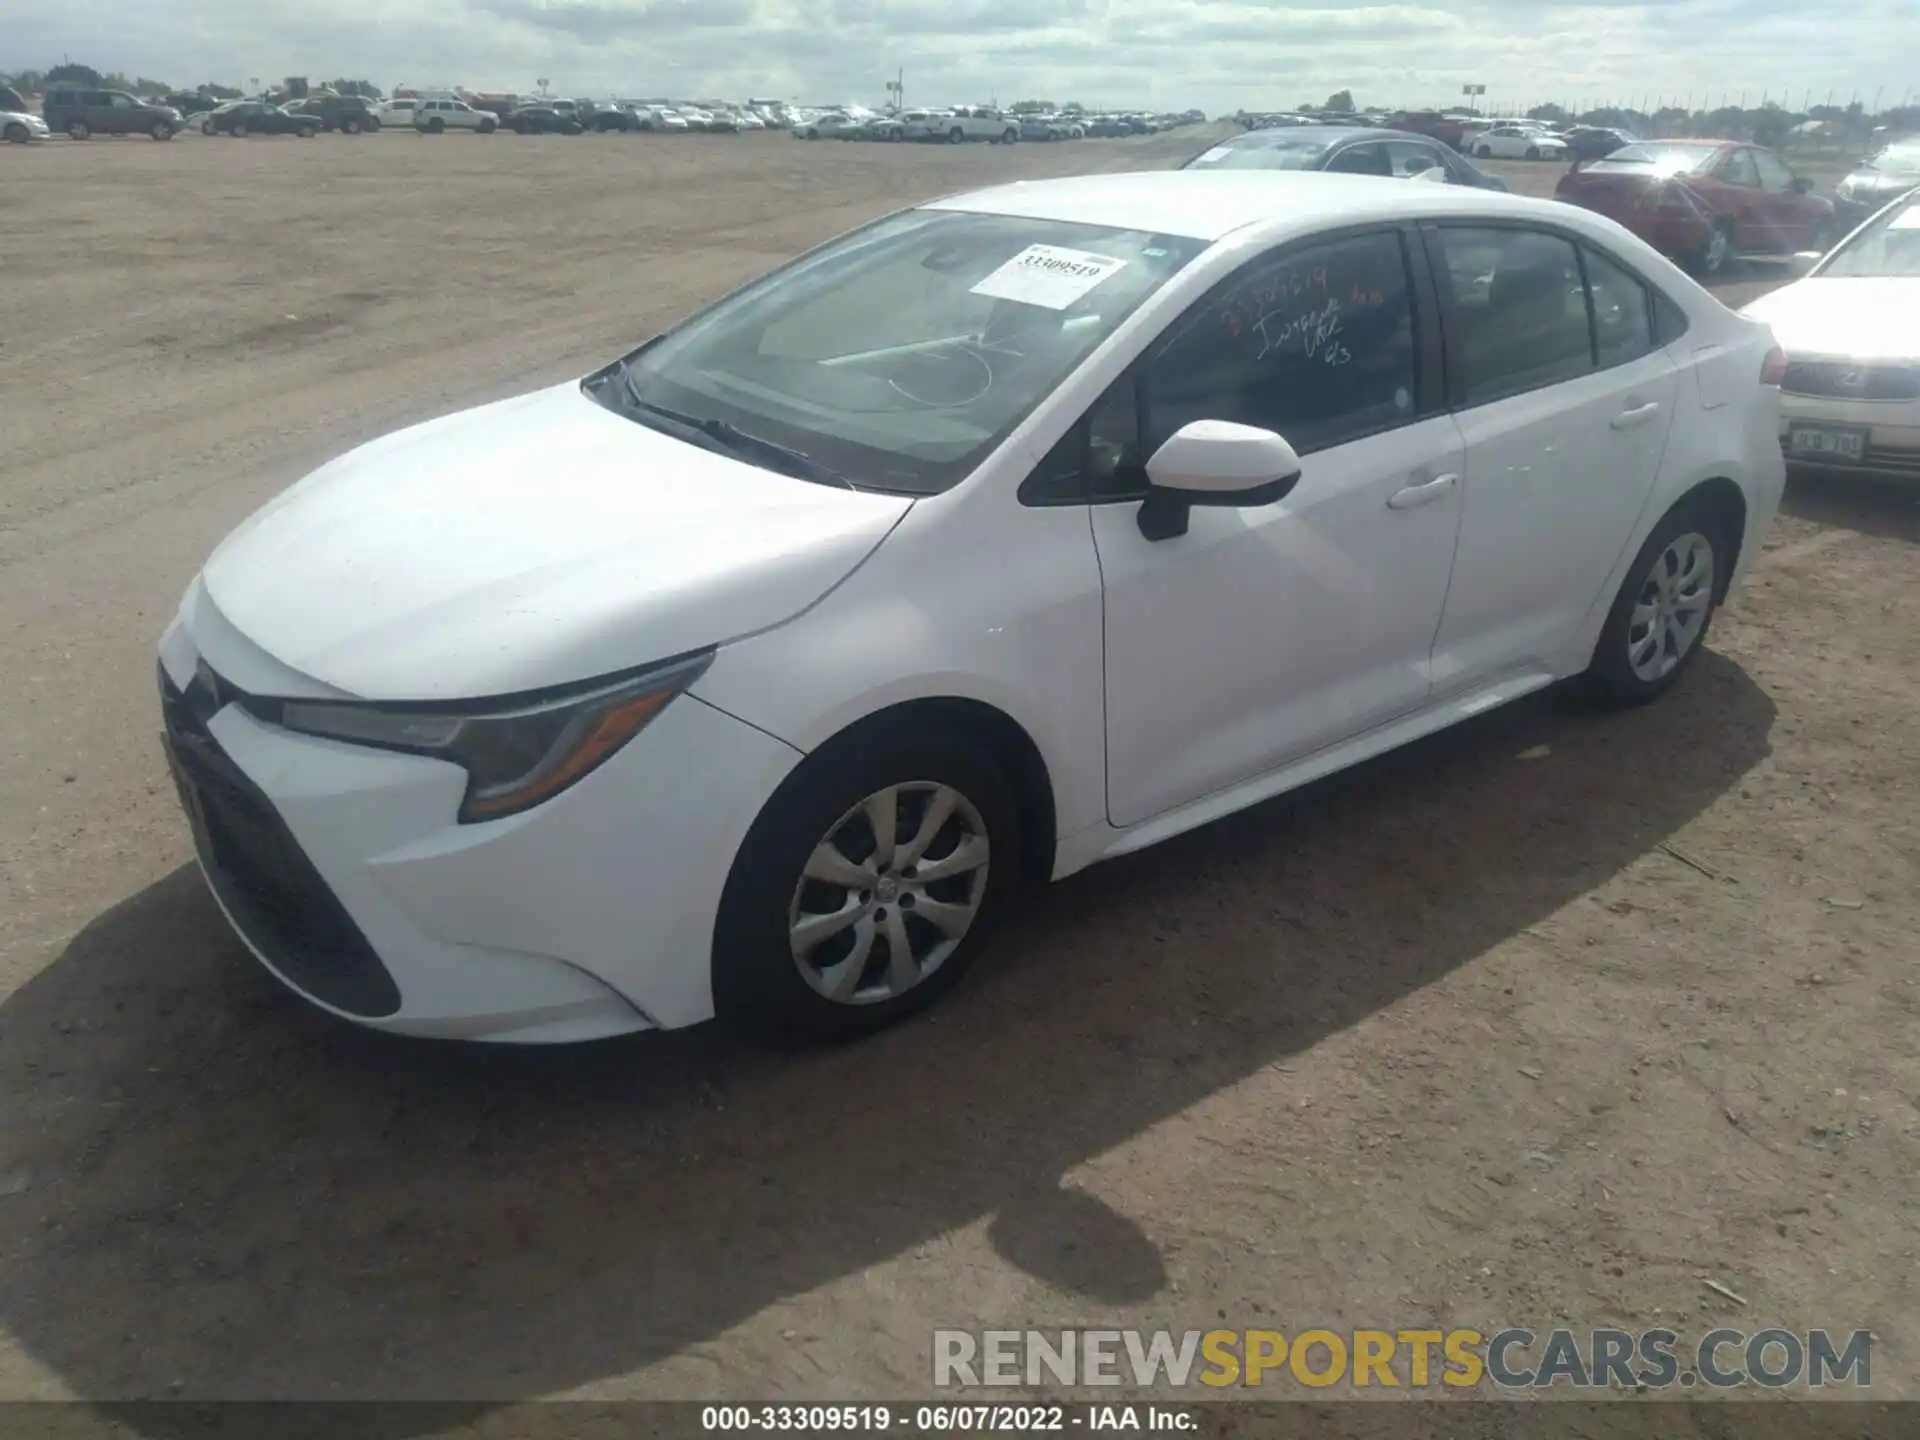
[[[1870,1327],[1920,1396],[1910,490],[1795,484],[1663,705],[1096,868],[851,1048],[392,1043],[204,895],[152,645],[265,497],[902,202],[1202,142],[0,152],[0,1398],[906,1398],[933,1327],[1215,1323]]]

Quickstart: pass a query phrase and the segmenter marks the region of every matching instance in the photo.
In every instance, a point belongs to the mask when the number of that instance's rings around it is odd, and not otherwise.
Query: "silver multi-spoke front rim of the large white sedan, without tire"
[[[987,897],[987,826],[952,785],[887,785],[849,808],[793,889],[801,977],[837,1004],[879,1004],[960,948]]]

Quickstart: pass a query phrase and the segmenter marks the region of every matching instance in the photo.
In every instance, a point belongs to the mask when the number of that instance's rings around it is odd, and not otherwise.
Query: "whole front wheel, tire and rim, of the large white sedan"
[[[968,735],[900,726],[801,762],[747,833],[714,925],[714,1004],[824,1041],[950,989],[1020,874],[1020,810]]]

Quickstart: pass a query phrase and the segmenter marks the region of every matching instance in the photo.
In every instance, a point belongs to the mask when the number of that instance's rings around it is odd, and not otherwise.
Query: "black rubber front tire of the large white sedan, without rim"
[[[954,952],[912,989],[870,1004],[829,1000],[793,958],[789,910],[803,868],[837,818],[868,795],[914,781],[950,785],[983,822],[991,860],[979,908]],[[904,810],[902,824],[910,824]],[[956,730],[904,724],[847,735],[787,776],[733,858],[714,922],[714,1006],[732,1025],[776,1044],[845,1039],[904,1020],[960,981],[1018,877],[1020,806],[985,747]]]

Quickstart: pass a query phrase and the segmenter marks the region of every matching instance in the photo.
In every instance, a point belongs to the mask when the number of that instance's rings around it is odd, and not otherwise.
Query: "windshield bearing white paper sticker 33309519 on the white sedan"
[[[643,424],[664,409],[801,451],[860,490],[935,493],[1204,248],[906,211],[774,271],[588,386]]]

